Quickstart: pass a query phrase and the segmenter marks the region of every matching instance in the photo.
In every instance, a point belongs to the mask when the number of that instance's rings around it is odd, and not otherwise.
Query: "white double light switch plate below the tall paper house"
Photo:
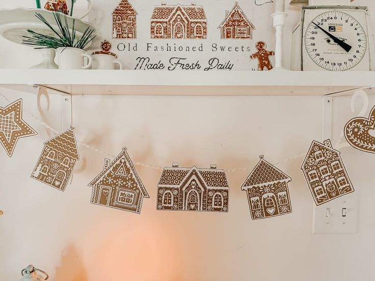
[[[358,191],[323,205],[314,205],[312,233],[356,233]],[[344,216],[344,213],[346,215]]]

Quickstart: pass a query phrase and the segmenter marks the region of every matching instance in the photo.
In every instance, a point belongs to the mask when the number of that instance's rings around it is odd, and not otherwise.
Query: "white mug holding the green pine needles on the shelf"
[[[59,69],[88,69],[92,66],[92,57],[85,50],[60,47],[56,49],[58,53]],[[88,58],[89,62],[85,66],[84,58]]]

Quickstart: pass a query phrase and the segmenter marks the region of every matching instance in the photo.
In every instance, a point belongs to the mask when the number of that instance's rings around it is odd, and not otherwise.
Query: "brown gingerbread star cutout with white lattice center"
[[[38,134],[22,119],[22,99],[0,106],[0,143],[12,157],[18,139]]]

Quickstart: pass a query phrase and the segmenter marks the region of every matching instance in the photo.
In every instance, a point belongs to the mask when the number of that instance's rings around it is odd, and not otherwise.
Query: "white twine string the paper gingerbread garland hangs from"
[[[3,94],[0,94],[1,97],[3,97],[5,100],[7,100],[8,102],[12,102],[10,101],[6,96],[4,96]],[[30,116],[31,118],[33,118],[34,120],[38,121],[41,125],[43,125],[45,128],[55,132],[56,134],[59,134],[60,132],[54,128],[52,128],[51,126],[49,126],[48,124],[46,124],[45,122],[43,122],[42,120],[40,120],[38,117],[36,117],[35,115],[29,113],[29,111],[25,110],[22,108],[22,111],[23,113],[25,113],[26,115]],[[339,144],[341,142],[341,139],[343,138],[343,135],[338,139],[337,141],[337,144]],[[79,141],[79,139],[77,139],[77,143],[81,146],[84,146],[90,150],[93,150],[97,153],[100,153],[100,154],[103,154],[105,156],[108,156],[108,157],[111,157],[111,158],[115,158],[116,156],[115,155],[112,155],[110,153],[107,153],[105,151],[102,151],[100,149],[97,149],[95,147],[92,147],[90,145],[88,145],[87,143],[84,143],[82,141]],[[302,154],[299,154],[299,155],[296,155],[296,156],[292,156],[290,158],[287,158],[287,159],[284,159],[284,160],[281,160],[279,162],[276,162],[274,163],[274,165],[278,165],[278,164],[282,164],[282,163],[285,163],[285,162],[289,162],[291,160],[294,160],[294,159],[297,159],[297,158],[302,158],[304,157],[305,154],[302,153]],[[147,163],[143,163],[143,162],[136,162],[135,165],[138,165],[138,166],[143,166],[143,167],[146,167],[146,168],[153,168],[155,170],[164,170],[164,167],[160,167],[160,166],[156,166],[156,165],[152,165],[152,164],[147,164]],[[229,169],[229,170],[224,170],[225,172],[227,173],[234,173],[234,172],[243,172],[243,171],[249,171],[249,170],[253,170],[254,167],[243,167],[243,168],[234,168],[234,169]]]

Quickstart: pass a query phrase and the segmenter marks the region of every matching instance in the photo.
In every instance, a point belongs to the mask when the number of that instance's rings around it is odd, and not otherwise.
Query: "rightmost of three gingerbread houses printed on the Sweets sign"
[[[255,26],[236,2],[232,10],[225,11],[225,18],[218,29],[222,39],[253,39]]]

